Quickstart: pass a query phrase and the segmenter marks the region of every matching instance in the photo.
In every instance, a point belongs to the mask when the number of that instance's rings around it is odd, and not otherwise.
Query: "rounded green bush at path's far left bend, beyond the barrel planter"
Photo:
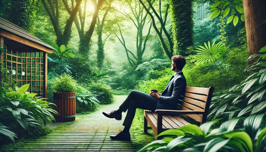
[[[97,95],[100,104],[110,104],[114,102],[113,91],[109,85],[104,83],[92,83],[89,85],[89,90]]]

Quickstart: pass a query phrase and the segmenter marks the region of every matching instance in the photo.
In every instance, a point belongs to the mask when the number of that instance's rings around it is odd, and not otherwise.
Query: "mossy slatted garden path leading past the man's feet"
[[[131,141],[115,141],[109,136],[123,129],[123,113],[121,121],[103,116],[103,111],[118,109],[126,96],[115,96],[115,103],[103,106],[91,114],[77,115],[76,121],[54,122],[49,125],[53,132],[28,140],[26,146],[18,151],[99,151],[99,152],[130,152],[135,151],[134,133],[130,130]]]

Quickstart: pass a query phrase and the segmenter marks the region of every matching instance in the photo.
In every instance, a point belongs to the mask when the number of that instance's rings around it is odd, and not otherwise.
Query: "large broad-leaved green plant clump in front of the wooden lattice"
[[[26,92],[29,84],[22,87],[16,87],[16,91],[11,88],[1,88],[0,92],[0,124],[3,124],[11,130],[16,130],[19,127],[28,129],[29,126],[45,125],[50,118],[54,120],[53,114],[58,113],[51,109],[50,105],[54,105],[45,98],[34,97],[36,93]],[[19,126],[18,126],[19,124]],[[2,127],[2,133],[14,137],[12,132],[8,132],[6,127]],[[11,136],[10,136],[11,135]]]

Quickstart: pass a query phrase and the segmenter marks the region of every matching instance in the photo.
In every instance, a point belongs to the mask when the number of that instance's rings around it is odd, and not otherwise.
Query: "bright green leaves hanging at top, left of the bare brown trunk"
[[[214,0],[214,4],[211,5],[212,11],[210,14],[210,19],[216,18],[219,14],[221,16],[226,17],[230,11],[230,17],[228,17],[226,24],[229,24],[233,21],[234,26],[238,23],[239,18],[244,22],[244,9],[243,9],[243,2],[242,0]],[[238,15],[240,17],[238,17]]]

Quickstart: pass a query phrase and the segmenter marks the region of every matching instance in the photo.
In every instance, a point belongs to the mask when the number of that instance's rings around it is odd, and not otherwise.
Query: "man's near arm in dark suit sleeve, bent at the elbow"
[[[160,96],[160,104],[176,104],[180,103],[180,96],[183,95],[186,88],[186,81],[179,77],[174,81],[174,89],[171,97]]]

